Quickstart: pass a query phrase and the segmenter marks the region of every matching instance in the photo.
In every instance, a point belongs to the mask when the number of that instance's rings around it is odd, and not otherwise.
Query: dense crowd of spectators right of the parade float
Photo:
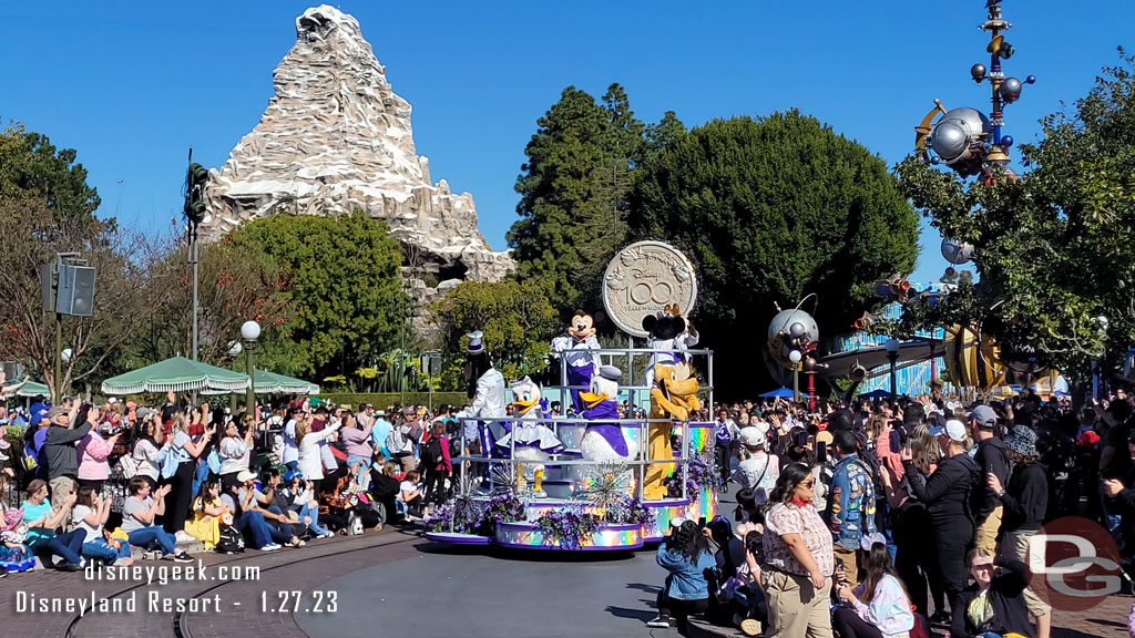
[[[1052,610],[1026,566],[1044,523],[1081,517],[1105,528],[1129,590],[1132,415],[1124,389],[1079,409],[1028,392],[716,405],[715,457],[724,489],[738,490],[734,520],[672,523],[658,551],[670,576],[648,624],[705,613],[768,637],[939,627],[955,638],[1048,638]],[[712,569],[691,534],[708,540]]]

